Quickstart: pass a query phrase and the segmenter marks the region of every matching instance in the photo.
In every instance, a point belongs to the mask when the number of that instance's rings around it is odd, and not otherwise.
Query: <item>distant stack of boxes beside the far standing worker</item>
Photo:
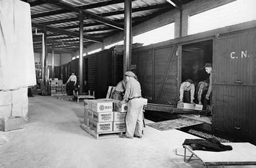
[[[58,80],[58,78],[54,78],[54,80],[50,81],[51,95],[65,95],[66,92],[66,84],[63,84],[62,80]]]

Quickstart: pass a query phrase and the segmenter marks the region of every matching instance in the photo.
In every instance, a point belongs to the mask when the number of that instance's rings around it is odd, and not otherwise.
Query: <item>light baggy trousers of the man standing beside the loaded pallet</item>
[[[141,98],[133,98],[128,102],[128,109],[125,118],[126,136],[142,136],[143,126],[143,101]]]

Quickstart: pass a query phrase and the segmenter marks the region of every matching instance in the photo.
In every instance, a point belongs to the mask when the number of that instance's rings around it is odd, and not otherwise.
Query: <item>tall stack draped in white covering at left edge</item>
[[[27,117],[27,87],[35,82],[30,5],[0,0],[0,118]]]

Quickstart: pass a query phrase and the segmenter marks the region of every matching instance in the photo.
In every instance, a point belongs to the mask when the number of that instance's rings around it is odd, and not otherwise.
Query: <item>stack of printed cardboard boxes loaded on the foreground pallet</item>
[[[118,107],[116,100],[84,100],[84,125],[97,133],[122,132],[126,130],[126,111],[127,104]]]

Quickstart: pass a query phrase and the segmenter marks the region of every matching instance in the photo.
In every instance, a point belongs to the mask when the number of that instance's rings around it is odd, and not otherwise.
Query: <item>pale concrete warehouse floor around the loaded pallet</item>
[[[146,127],[142,139],[95,140],[80,129],[83,103],[50,96],[35,96],[29,102],[29,122],[24,129],[0,132],[8,140],[0,143],[1,168],[204,167],[195,159],[184,163],[174,152],[176,148],[183,151],[185,138],[195,138],[190,134]]]

